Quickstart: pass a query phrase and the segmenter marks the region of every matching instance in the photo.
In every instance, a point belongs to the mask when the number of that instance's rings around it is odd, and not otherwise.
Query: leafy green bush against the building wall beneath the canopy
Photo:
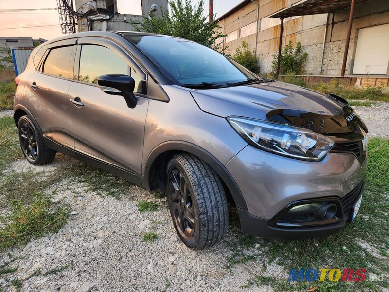
[[[289,41],[283,51],[281,51],[280,75],[304,73],[304,64],[307,57],[307,52],[301,54],[300,42],[296,44],[296,49],[293,50],[293,43],[292,41]],[[273,73],[277,71],[277,59],[278,56],[273,55]]]

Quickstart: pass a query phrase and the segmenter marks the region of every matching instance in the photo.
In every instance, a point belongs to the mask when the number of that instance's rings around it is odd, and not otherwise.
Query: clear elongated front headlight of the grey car
[[[234,116],[227,120],[251,145],[288,157],[318,161],[334,146],[331,139],[304,128]]]

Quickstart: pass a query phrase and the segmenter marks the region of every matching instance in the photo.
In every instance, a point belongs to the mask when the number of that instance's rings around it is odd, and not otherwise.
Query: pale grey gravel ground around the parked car
[[[371,136],[388,137],[389,103],[355,110]],[[12,115],[12,111],[0,112],[0,117],[4,115]],[[9,164],[7,171],[43,171],[47,175],[61,171],[63,163],[80,162],[59,155],[47,166],[33,167],[20,160]],[[266,248],[260,240],[252,246],[238,243],[242,234],[236,222],[221,244],[191,251],[179,241],[165,199],[132,186],[118,200],[86,191],[85,183],[67,180],[47,191],[56,189],[53,199],[64,199],[71,206],[68,223],[56,234],[2,253],[0,264],[12,255],[18,259],[10,267],[18,269],[0,277],[0,289],[4,286],[4,291],[14,291],[7,281],[21,279],[20,291],[272,291],[269,286],[241,286],[254,274],[287,279],[287,271],[276,264],[277,260],[264,269]],[[140,213],[140,200],[157,202],[158,210]],[[150,231],[158,239],[144,242],[144,233]],[[231,265],[228,258],[236,252],[255,259]],[[56,274],[42,275],[61,268],[63,271]],[[34,275],[37,269],[40,275]]]

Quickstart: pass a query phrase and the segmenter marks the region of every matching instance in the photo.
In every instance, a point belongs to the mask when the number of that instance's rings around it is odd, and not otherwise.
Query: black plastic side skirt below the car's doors
[[[85,162],[86,164],[98,167],[98,168],[103,169],[107,172],[115,174],[115,175],[117,175],[117,176],[131,182],[131,183],[135,183],[139,186],[142,186],[141,175],[139,173],[129,172],[129,171],[124,170],[124,169],[117,167],[115,165],[107,164],[103,161],[89,157],[88,155],[85,155],[83,153],[73,151],[72,149],[70,149],[66,146],[62,146],[62,145],[54,142],[53,140],[50,140],[47,137],[43,137],[43,142],[44,142],[45,146],[49,149],[53,149],[57,152],[61,152],[63,154],[71,156],[75,159],[78,159],[82,162]]]

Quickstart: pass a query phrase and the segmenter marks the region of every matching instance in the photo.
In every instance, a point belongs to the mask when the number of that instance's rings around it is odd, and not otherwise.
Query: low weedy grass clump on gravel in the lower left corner
[[[57,232],[68,217],[68,209],[60,203],[53,203],[48,195],[36,194],[35,201],[29,206],[21,199],[14,200],[12,211],[0,215],[0,250]]]

